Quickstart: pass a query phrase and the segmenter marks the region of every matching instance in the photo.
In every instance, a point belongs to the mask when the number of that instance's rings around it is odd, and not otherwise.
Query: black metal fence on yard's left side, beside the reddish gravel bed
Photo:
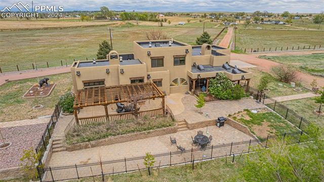
[[[47,146],[49,144],[51,135],[53,134],[56,123],[58,122],[60,113],[61,113],[61,107],[59,104],[56,104],[54,112],[51,116],[51,119],[50,119],[49,123],[47,124],[47,128],[42,135],[42,140],[39,141],[39,143],[35,149],[36,154],[41,153],[41,158],[39,159],[39,164],[42,164],[42,158],[44,156],[44,152],[47,150]]]

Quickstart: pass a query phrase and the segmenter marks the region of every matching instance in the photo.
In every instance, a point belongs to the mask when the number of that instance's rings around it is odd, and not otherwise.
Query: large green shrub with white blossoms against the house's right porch
[[[237,100],[247,96],[244,89],[230,81],[224,73],[209,81],[209,93],[221,100]]]

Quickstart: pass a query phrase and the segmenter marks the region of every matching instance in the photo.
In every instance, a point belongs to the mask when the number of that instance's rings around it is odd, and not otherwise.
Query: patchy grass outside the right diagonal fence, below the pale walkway
[[[291,110],[296,113],[301,114],[307,120],[315,122],[321,127],[324,127],[324,116],[316,115],[314,110],[318,110],[319,104],[315,103],[313,98],[304,98],[299,100],[290,100],[285,102],[280,102],[281,104],[286,105]]]

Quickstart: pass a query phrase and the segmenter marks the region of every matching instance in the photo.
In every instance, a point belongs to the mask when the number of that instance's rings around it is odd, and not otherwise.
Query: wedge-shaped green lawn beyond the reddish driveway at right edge
[[[310,74],[324,76],[324,54],[298,55],[298,56],[260,56],[307,71]]]

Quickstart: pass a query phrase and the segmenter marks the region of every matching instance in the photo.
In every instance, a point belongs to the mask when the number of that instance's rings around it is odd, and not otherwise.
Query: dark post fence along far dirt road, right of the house
[[[278,47],[255,47],[255,48],[238,48],[236,51],[251,53],[251,52],[281,52],[281,51],[298,51],[298,50],[316,50],[323,49],[321,45],[303,45],[303,46],[278,46]]]

